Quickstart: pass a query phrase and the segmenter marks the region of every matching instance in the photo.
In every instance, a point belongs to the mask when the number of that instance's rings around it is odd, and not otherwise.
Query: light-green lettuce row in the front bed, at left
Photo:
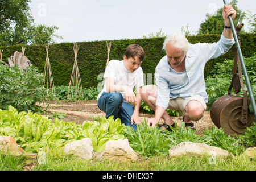
[[[0,135],[16,139],[27,152],[38,151],[40,147],[64,146],[73,140],[89,137],[96,152],[102,152],[108,140],[125,138],[121,120],[101,117],[98,121],[85,121],[82,125],[64,122],[55,118],[52,122],[47,116],[28,111],[18,113],[13,106],[9,110],[0,109]]]

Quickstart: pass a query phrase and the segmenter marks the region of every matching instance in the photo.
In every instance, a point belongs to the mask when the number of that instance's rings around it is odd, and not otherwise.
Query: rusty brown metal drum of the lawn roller
[[[250,98],[247,98],[247,106]],[[243,97],[226,95],[218,98],[210,109],[210,117],[214,125],[222,128],[226,134],[240,135],[255,122],[254,114],[247,109],[246,116],[243,117]]]

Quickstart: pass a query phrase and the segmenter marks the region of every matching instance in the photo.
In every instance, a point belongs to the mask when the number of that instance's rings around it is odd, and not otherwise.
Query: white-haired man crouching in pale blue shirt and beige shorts
[[[158,63],[155,72],[156,85],[142,88],[142,100],[155,111],[147,125],[156,126],[163,118],[163,129],[171,131],[174,121],[166,109],[184,112],[183,121],[186,127],[194,129],[192,121],[198,121],[204,115],[208,96],[205,91],[204,67],[208,60],[225,54],[234,44],[228,16],[236,17],[232,5],[224,5],[222,16],[224,30],[217,43],[189,44],[180,33],[167,36],[163,44],[166,50]]]

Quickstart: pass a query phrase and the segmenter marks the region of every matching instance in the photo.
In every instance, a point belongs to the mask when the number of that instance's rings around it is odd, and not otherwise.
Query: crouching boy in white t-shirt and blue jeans
[[[141,106],[141,88],[144,86],[143,71],[140,67],[144,60],[143,48],[131,44],[126,48],[123,60],[111,60],[104,73],[104,88],[98,94],[98,108],[114,119],[133,127],[139,125],[139,107]],[[136,95],[133,89],[136,89]]]

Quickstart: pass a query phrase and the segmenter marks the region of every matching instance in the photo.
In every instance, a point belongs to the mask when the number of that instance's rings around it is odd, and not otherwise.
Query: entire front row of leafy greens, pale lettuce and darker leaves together
[[[255,124],[254,124],[255,125]],[[168,150],[180,142],[190,141],[206,143],[210,146],[223,148],[233,154],[240,154],[244,148],[242,144],[255,146],[256,127],[247,128],[247,132],[237,139],[224,133],[223,130],[212,127],[206,129],[203,136],[195,131],[175,128],[170,132],[163,132],[158,127],[147,126],[146,121],[137,125],[137,131],[130,126],[121,125],[120,119],[109,117],[99,118],[97,121],[85,121],[82,125],[75,122],[64,122],[55,118],[52,122],[47,116],[28,111],[18,112],[13,106],[8,110],[0,109],[0,135],[11,136],[24,148],[26,152],[39,152],[44,147],[63,147],[68,142],[89,137],[92,139],[94,151],[104,150],[106,142],[128,138],[131,148],[144,156],[167,155]]]

